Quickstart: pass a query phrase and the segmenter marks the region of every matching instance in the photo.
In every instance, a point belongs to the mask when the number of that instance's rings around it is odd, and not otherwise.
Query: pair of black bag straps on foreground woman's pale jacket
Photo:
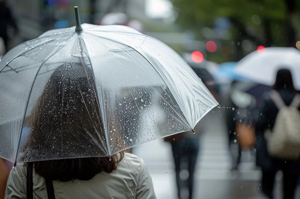
[[[52,180],[49,180],[48,178],[46,178],[45,180],[46,180],[48,199],[55,199]],[[27,198],[33,199],[33,165],[32,164],[27,165]]]

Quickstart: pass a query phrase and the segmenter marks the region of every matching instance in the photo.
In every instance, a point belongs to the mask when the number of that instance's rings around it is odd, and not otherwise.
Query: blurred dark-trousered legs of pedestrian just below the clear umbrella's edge
[[[178,197],[183,198],[181,191],[187,185],[189,198],[192,199],[194,172],[199,153],[199,132],[193,134],[191,131],[187,131],[165,137],[164,140],[170,142],[172,146]],[[187,168],[182,168],[183,165],[186,165]],[[188,171],[187,182],[182,180],[180,175],[180,172],[184,169]]]

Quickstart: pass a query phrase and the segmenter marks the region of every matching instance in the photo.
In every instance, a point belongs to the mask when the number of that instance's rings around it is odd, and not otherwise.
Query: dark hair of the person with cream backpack
[[[280,69],[277,71],[276,81],[273,89],[286,89],[290,91],[296,91],[293,84],[292,74],[288,69]]]

